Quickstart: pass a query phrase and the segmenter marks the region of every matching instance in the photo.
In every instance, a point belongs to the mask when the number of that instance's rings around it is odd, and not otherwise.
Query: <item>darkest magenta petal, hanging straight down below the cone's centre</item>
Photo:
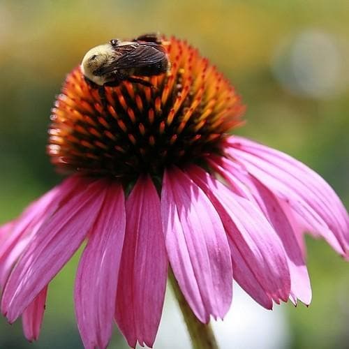
[[[151,347],[161,319],[168,258],[160,200],[149,177],[140,177],[126,202],[115,318],[129,346]]]

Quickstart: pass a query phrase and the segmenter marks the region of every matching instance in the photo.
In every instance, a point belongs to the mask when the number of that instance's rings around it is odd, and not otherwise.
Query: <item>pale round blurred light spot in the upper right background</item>
[[[348,89],[348,54],[348,42],[309,29],[281,41],[272,59],[272,70],[281,85],[294,94],[331,98]]]

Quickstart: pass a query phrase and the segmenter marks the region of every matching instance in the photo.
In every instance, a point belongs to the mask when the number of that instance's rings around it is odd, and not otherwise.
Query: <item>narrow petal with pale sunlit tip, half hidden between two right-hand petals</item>
[[[262,209],[269,222],[272,223],[274,230],[279,235],[285,248],[291,276],[291,293],[304,304],[310,304],[311,285],[306,263],[297,242],[296,233],[279,200],[260,181],[254,179],[249,174],[239,172],[232,161],[222,159],[222,163],[223,168],[226,170],[222,169],[221,175],[232,184],[235,183],[234,179],[244,181],[249,191],[251,191],[253,198],[255,198],[255,202]],[[228,172],[232,176],[228,176]]]

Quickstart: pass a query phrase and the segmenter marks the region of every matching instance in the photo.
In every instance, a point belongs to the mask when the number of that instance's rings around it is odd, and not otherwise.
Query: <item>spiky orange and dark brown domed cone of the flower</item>
[[[105,87],[105,102],[75,68],[51,115],[47,152],[61,172],[123,179],[161,176],[171,165],[207,165],[208,154],[240,126],[244,112],[228,80],[198,50],[164,39],[168,73],[144,77],[152,87]]]

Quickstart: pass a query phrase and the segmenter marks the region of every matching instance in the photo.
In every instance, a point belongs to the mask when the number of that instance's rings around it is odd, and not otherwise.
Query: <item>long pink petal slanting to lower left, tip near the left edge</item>
[[[9,322],[15,321],[79,248],[99,214],[105,183],[81,178],[74,194],[38,230],[10,274],[1,303]]]

